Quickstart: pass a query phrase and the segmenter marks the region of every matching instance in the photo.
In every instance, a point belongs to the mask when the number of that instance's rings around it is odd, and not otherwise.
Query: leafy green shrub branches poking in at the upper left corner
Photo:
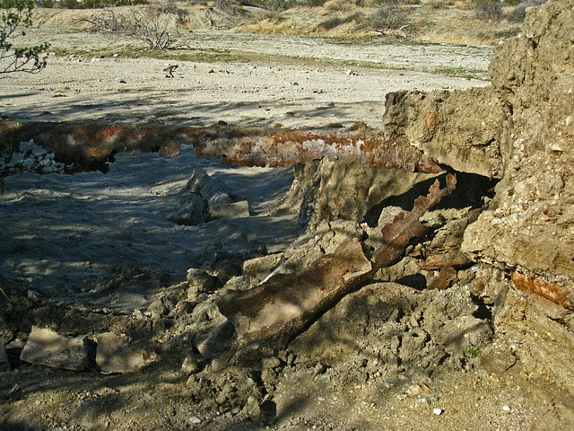
[[[49,44],[14,48],[14,42],[26,35],[32,25],[33,0],[15,0],[0,17],[0,74],[28,72],[36,74],[48,64]]]

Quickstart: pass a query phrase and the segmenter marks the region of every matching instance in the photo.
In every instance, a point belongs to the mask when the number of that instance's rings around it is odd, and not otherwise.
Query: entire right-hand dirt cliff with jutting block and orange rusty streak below
[[[458,172],[499,179],[461,251],[482,263],[470,286],[493,304],[492,363],[517,356],[528,376],[574,389],[574,1],[527,14],[502,43],[492,85],[387,97],[392,139]]]

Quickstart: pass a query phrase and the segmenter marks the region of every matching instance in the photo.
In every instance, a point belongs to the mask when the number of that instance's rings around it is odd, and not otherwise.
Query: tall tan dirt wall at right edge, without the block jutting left
[[[509,106],[510,151],[495,206],[465,234],[478,259],[526,269],[574,298],[574,2],[528,14],[501,45],[492,85]],[[508,132],[507,132],[508,133]]]

